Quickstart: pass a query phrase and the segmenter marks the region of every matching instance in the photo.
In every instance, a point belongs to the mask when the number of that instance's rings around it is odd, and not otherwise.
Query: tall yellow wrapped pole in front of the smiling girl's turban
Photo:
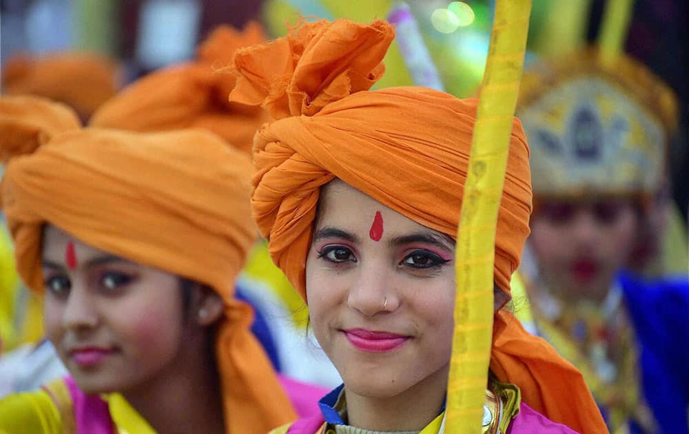
[[[455,331],[445,433],[480,434],[493,340],[495,228],[531,0],[497,0],[457,229]]]

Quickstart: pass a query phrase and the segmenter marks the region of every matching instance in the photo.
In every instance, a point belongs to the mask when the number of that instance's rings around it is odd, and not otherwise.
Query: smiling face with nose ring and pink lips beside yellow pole
[[[322,189],[306,265],[313,331],[348,391],[444,391],[454,242],[336,180]]]

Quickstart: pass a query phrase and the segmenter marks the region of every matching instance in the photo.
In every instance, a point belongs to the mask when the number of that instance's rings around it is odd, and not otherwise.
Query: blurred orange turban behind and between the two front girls
[[[258,23],[243,32],[220,26],[198,47],[196,61],[139,79],[105,103],[90,125],[140,132],[199,127],[249,152],[256,130],[269,118],[260,107],[227,101],[235,79],[221,68],[236,49],[263,41]]]

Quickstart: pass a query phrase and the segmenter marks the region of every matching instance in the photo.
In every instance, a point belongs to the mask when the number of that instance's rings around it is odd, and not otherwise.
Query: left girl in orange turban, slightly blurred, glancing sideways
[[[0,401],[3,433],[265,433],[296,417],[250,307],[249,160],[201,130],[81,129],[0,99],[1,200],[71,378]],[[119,392],[145,420],[126,420]]]

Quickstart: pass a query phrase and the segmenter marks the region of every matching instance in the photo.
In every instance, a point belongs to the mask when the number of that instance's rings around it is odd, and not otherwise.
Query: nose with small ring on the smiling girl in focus
[[[380,312],[392,312],[400,306],[400,298],[394,289],[393,276],[382,265],[375,262],[362,264],[358,269],[347,294],[350,309],[364,316],[374,316]]]

